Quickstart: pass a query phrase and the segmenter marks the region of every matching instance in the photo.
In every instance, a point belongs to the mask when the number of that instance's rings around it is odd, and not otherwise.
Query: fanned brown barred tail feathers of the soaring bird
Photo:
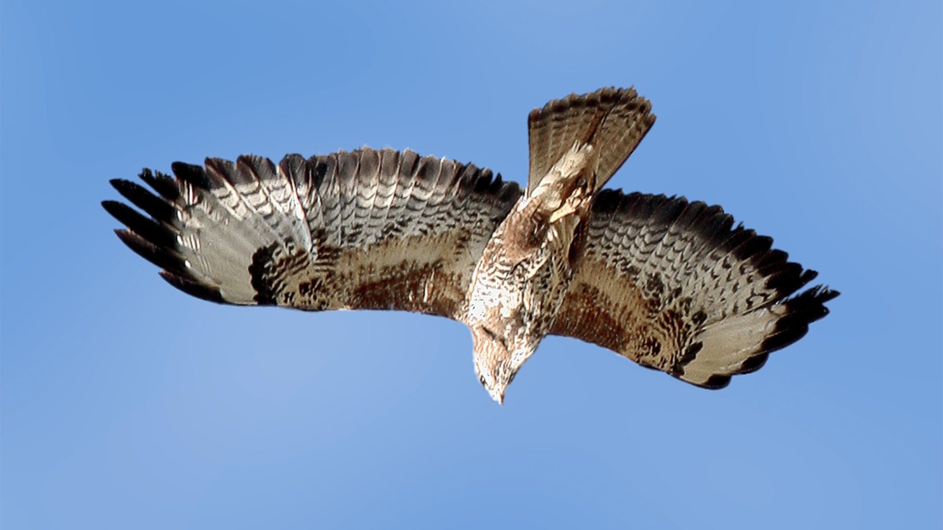
[[[532,192],[574,143],[591,144],[597,154],[596,190],[601,190],[654,124],[652,103],[635,89],[600,89],[554,99],[527,116]]]

